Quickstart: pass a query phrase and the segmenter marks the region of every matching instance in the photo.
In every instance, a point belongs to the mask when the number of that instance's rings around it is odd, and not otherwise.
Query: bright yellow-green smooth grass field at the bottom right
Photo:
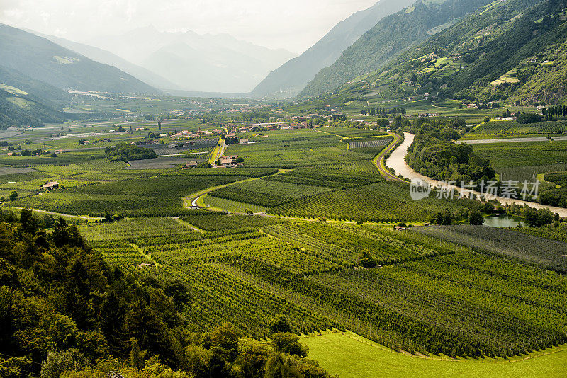
[[[347,336],[348,335],[348,336]],[[351,337],[349,337],[351,336]],[[330,374],[342,378],[558,378],[567,375],[567,349],[546,350],[537,358],[507,362],[502,359],[426,360],[378,348],[352,333],[328,333],[301,339],[309,357]]]

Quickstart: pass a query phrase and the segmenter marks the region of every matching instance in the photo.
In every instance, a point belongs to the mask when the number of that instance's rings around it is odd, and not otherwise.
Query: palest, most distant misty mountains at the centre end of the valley
[[[167,79],[175,90],[248,93],[283,62],[286,50],[237,40],[230,35],[160,32],[138,28],[88,42]],[[169,89],[169,88],[167,88]]]

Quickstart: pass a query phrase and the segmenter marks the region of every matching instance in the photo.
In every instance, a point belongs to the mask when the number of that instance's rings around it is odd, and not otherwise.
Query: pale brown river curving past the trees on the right
[[[455,185],[447,185],[442,183],[441,181],[434,180],[427,176],[423,176],[420,173],[414,171],[408,164],[405,162],[405,155],[408,153],[408,147],[413,143],[413,139],[415,137],[414,134],[410,134],[409,132],[404,132],[405,139],[400,147],[395,149],[391,156],[386,160],[386,166],[390,168],[394,168],[396,174],[401,174],[403,177],[412,179],[412,178],[420,178],[421,180],[429,183],[432,187],[447,187],[454,190],[460,190],[459,187]],[[467,190],[468,191],[468,190]],[[472,192],[475,195],[483,195],[483,193]],[[513,198],[505,198],[505,197],[495,197],[495,200],[504,204],[504,205],[528,205],[529,207],[533,207],[534,209],[549,209],[551,212],[556,212],[559,214],[560,217],[567,217],[567,209],[563,209],[562,207],[554,207],[554,206],[547,206],[547,205],[540,205],[536,202],[527,202],[522,200],[514,200]]]

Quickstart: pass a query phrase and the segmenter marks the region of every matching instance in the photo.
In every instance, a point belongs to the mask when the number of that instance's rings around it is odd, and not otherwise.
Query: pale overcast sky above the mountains
[[[378,0],[0,0],[0,23],[86,42],[154,25],[301,53]]]

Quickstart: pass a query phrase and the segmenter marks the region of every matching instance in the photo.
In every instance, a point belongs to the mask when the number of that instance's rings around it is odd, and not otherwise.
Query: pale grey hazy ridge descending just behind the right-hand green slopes
[[[381,18],[410,6],[415,0],[381,0],[335,25],[329,33],[299,57],[283,64],[264,79],[251,95],[264,98],[297,96],[315,75],[340,57],[341,52]]]

